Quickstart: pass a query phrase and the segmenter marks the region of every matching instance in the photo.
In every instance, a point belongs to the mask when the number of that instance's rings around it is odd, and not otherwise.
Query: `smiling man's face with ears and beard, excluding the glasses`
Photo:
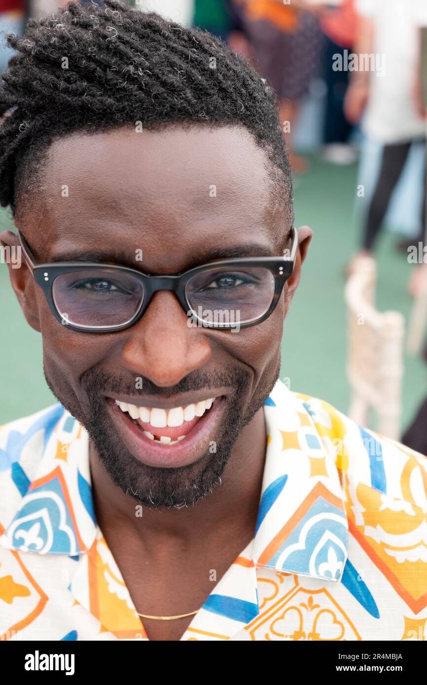
[[[169,275],[219,249],[236,256],[250,245],[252,256],[260,249],[275,256],[287,245],[291,217],[273,205],[266,168],[265,153],[237,128],[73,134],[51,146],[42,191],[16,224],[37,262],[97,253],[102,262]],[[212,490],[269,395],[300,263],[301,254],[269,319],[239,332],[189,327],[165,290],[127,330],[74,332],[56,321],[26,268],[11,273],[27,320],[42,333],[53,393],[88,429],[115,484],[160,507],[191,504]],[[210,408],[199,404],[208,399],[215,399]],[[115,400],[145,410],[135,419],[134,408],[123,411]],[[162,427],[170,410],[180,421],[178,408],[193,404],[199,414],[206,407],[203,416]],[[147,411],[156,431],[147,429]]]

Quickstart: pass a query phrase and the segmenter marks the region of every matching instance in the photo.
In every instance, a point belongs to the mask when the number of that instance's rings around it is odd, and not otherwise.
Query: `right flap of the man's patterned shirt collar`
[[[330,440],[329,414],[319,401],[282,382],[265,403],[267,454],[258,510],[255,566],[340,581],[348,524]]]

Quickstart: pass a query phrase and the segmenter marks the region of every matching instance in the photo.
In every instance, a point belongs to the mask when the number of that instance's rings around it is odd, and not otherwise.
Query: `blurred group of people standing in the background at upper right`
[[[352,163],[369,152],[361,140],[377,145],[378,177],[361,234],[361,254],[372,253],[411,148],[426,145],[426,0],[195,0],[195,23],[227,40],[276,90],[294,173],[308,166],[293,134],[315,77],[326,90],[324,159]],[[422,158],[413,173],[424,177]],[[425,189],[424,179],[416,182]],[[411,242],[424,240],[425,192],[417,223]],[[416,290],[416,275],[410,287]]]

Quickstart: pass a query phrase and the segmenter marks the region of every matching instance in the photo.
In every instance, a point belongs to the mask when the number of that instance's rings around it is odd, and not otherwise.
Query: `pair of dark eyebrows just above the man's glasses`
[[[236,245],[235,247],[223,247],[210,251],[202,259],[189,260],[185,271],[188,269],[192,269],[193,266],[198,266],[199,264],[208,264],[209,262],[216,262],[219,260],[238,259],[239,257],[271,256],[274,256],[271,252],[271,249],[269,249],[265,245],[259,245],[258,243],[251,243],[249,245],[239,246]],[[116,266],[120,266],[123,264],[123,266],[130,266],[131,269],[135,269],[136,264],[143,264],[143,260],[141,262],[135,262],[135,258],[133,256],[130,256],[129,254],[125,255],[114,252],[82,253],[81,251],[58,253],[56,255],[53,255],[53,257],[51,258],[51,263],[54,262],[98,262],[100,264],[114,264]]]

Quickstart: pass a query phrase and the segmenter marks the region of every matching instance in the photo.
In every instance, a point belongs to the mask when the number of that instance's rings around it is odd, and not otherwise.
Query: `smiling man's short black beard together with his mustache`
[[[278,370],[274,381],[263,388],[258,397],[252,398],[245,414],[243,406],[252,375],[243,369],[215,374],[193,371],[173,388],[159,388],[149,379],[143,378],[142,388],[138,386],[141,395],[158,395],[163,398],[210,387],[230,387],[234,390],[226,399],[228,406],[223,413],[219,432],[215,436],[215,451],[210,443],[211,446],[197,462],[178,468],[161,468],[139,462],[117,436],[107,410],[105,395],[134,395],[134,378],[130,380],[128,376],[106,374],[96,367],[85,371],[80,377],[80,382],[90,406],[88,416],[83,415],[81,406],[67,406],[47,376],[46,380],[62,405],[86,428],[93,447],[114,484],[147,508],[170,509],[193,506],[199,499],[212,493],[213,488],[221,483],[221,475],[241,429],[252,421],[256,412],[263,406],[277,377]]]

